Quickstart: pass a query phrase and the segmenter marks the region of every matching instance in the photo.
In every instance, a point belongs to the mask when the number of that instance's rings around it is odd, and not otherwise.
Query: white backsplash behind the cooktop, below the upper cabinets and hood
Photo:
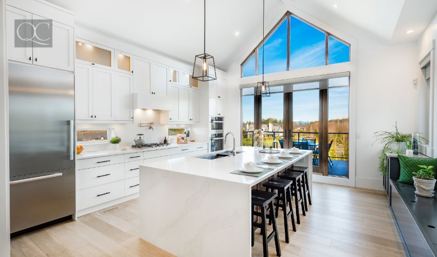
[[[154,122],[154,129],[150,130],[149,127],[140,127],[139,123],[149,123]],[[163,142],[164,137],[168,138],[168,128],[171,127],[186,127],[190,131],[190,139],[195,139],[195,135],[192,134],[190,124],[160,124],[160,111],[157,110],[145,110],[145,109],[135,109],[134,110],[134,124],[88,124],[88,123],[78,123],[76,124],[76,129],[80,130],[83,128],[113,128],[114,135],[121,138],[120,147],[131,146],[134,144],[134,138],[137,134],[144,134],[144,140],[146,143]],[[93,146],[87,145],[96,149],[109,149],[109,143],[95,144]]]

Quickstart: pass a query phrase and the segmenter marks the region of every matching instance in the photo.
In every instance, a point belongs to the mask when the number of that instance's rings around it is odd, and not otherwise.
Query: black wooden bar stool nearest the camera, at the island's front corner
[[[275,238],[275,246],[276,246],[276,255],[281,256],[281,248],[279,247],[279,236],[278,229],[276,227],[276,218],[273,209],[273,200],[278,195],[272,192],[264,192],[258,189],[252,189],[252,246],[254,245],[255,240],[255,229],[260,228],[263,236],[263,253],[264,257],[268,256],[268,242],[272,238]],[[256,207],[261,208],[261,212],[254,210]],[[269,219],[272,222],[273,231],[267,236],[267,223],[266,223],[266,212],[267,207],[270,208]],[[253,216],[261,217],[261,223],[257,223],[254,221]]]

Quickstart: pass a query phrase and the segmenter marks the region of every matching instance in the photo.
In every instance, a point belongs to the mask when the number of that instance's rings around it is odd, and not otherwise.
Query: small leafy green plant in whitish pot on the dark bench
[[[417,165],[422,168],[416,172],[413,172],[414,187],[416,188],[416,194],[432,197],[434,196],[434,186],[435,186],[435,174],[434,166]]]

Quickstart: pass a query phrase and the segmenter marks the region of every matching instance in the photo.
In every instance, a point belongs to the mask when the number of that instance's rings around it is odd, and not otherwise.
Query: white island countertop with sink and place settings
[[[254,151],[254,148],[251,146],[239,146],[238,148],[236,148],[236,151],[242,151],[243,153],[236,154],[236,156],[228,156],[228,157],[218,158],[214,160],[201,159],[196,157],[180,157],[170,160],[150,162],[147,164],[143,164],[141,166],[174,171],[179,173],[186,173],[196,176],[209,177],[209,178],[220,179],[220,180],[226,180],[236,183],[244,183],[253,186],[291,164],[289,162],[284,162],[284,164],[279,167],[268,166],[268,164],[266,165],[257,164],[257,166],[261,168],[274,169],[271,172],[266,173],[261,177],[232,174],[230,172],[240,169],[241,167],[243,167],[243,163],[245,162],[254,161],[255,163],[257,163],[265,159],[268,155],[272,155],[272,154],[259,153],[258,151]],[[304,151],[304,150],[302,151],[305,152],[305,154],[296,155],[295,156],[296,158],[291,160],[292,163],[295,163],[303,159],[305,156],[312,155],[312,151]],[[216,153],[220,153],[220,152],[224,152],[224,151],[218,151]],[[210,155],[210,154],[213,153],[203,154],[201,156]],[[147,169],[140,169],[140,172],[147,172]]]

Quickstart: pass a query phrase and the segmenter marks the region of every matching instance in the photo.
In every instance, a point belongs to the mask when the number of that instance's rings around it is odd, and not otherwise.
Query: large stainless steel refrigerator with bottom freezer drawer
[[[75,213],[74,75],[9,63],[11,233]]]

